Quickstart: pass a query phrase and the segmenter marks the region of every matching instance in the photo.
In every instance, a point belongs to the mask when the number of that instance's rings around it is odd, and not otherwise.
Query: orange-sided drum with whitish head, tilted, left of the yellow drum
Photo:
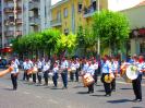
[[[94,79],[89,73],[86,73],[85,75],[83,75],[82,80],[85,87],[94,83]]]

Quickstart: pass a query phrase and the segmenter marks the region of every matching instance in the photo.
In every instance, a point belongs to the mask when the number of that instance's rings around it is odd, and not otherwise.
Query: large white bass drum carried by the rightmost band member
[[[137,67],[136,65],[129,65],[126,68],[126,76],[130,80],[135,80],[138,76],[138,71],[137,71]]]

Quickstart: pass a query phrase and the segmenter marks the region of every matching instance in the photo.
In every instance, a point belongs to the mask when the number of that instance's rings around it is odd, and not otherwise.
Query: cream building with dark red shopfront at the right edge
[[[121,12],[130,22],[130,53],[145,55],[145,1]]]

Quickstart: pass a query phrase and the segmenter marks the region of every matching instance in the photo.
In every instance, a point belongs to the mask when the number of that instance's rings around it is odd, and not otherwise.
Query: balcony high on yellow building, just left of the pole
[[[96,11],[94,7],[84,8],[84,17],[92,16]]]

